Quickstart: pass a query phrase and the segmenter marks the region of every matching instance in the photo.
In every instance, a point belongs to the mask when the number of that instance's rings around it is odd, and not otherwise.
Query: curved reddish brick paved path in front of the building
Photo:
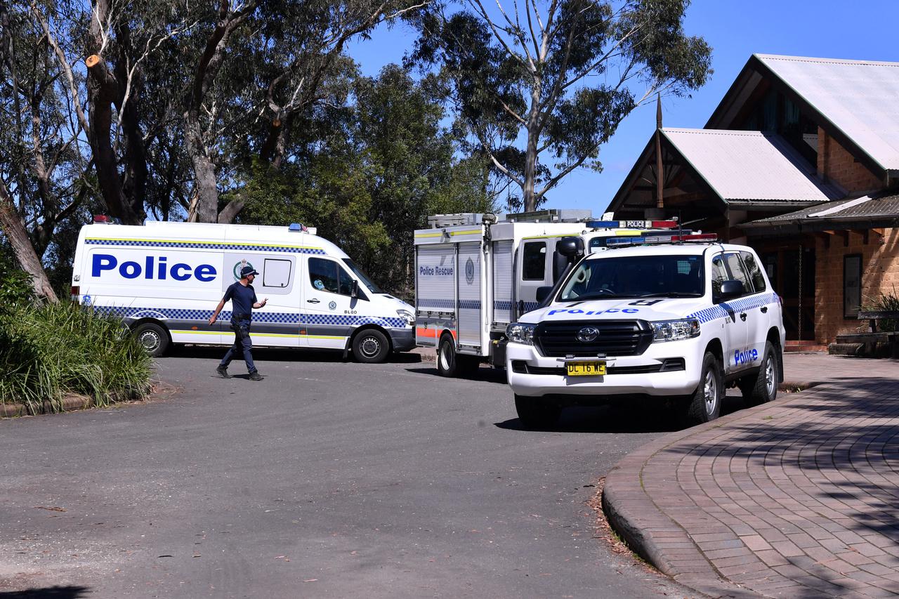
[[[708,595],[899,595],[899,361],[785,360],[788,382],[823,384],[628,455],[610,520]]]

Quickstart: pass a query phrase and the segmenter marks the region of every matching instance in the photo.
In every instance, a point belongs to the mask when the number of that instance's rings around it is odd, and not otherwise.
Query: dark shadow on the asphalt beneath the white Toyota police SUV
[[[510,393],[511,396],[511,393]],[[728,395],[721,405],[721,416],[743,409],[739,394]],[[653,400],[600,407],[566,407],[552,426],[527,428],[518,418],[494,423],[497,428],[525,433],[673,433],[691,425],[684,422],[679,409],[666,408]]]

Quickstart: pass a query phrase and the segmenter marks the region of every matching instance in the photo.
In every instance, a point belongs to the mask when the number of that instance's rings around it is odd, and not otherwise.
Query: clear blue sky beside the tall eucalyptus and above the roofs
[[[503,4],[512,4],[504,2]],[[690,98],[663,98],[665,127],[701,128],[753,53],[899,62],[897,0],[693,0],[684,23],[712,46],[715,73]],[[350,53],[366,75],[400,62],[414,33],[379,29]],[[899,99],[897,99],[899,101]],[[549,192],[546,208],[590,209],[601,215],[655,128],[655,104],[631,112],[602,146],[602,173],[580,169]]]

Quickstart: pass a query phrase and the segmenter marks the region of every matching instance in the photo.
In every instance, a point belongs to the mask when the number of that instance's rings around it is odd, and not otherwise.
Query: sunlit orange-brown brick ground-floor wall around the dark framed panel
[[[868,244],[861,233],[850,232],[849,246],[840,235],[830,236],[830,247],[822,238],[815,245],[814,336],[819,344],[832,343],[836,335],[853,333],[867,322],[843,317],[843,256],[861,255],[861,304],[880,293],[899,295],[899,228],[881,229],[884,237],[868,233]]]

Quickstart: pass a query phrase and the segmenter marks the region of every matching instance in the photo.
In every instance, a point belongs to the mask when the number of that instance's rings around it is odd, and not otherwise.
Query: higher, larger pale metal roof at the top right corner
[[[884,170],[899,170],[899,63],[754,56]]]

